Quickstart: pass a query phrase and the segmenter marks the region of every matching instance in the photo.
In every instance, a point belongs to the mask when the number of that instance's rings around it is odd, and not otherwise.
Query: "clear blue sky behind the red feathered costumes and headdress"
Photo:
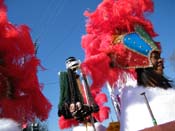
[[[58,71],[65,70],[65,59],[75,56],[83,61],[81,37],[85,34],[86,9],[94,11],[101,0],[5,0],[8,18],[13,24],[26,24],[31,28],[33,41],[39,44],[37,56],[46,71],[39,71],[40,83],[44,84],[44,95],[53,107],[48,118],[50,131],[59,131],[57,105],[59,102]],[[163,48],[165,74],[175,78],[175,63],[170,57],[175,52],[175,1],[154,0],[155,11],[151,19],[155,38]],[[110,105],[110,104],[109,104]],[[42,105],[41,105],[42,106]],[[113,108],[113,107],[111,107]],[[111,116],[110,116],[111,118]],[[115,120],[114,115],[112,118]],[[108,125],[111,119],[104,122]]]

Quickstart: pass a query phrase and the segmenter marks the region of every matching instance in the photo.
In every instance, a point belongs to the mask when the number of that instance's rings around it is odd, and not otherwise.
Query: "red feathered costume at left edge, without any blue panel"
[[[6,12],[0,0],[0,118],[19,123],[46,120],[51,104],[41,92],[37,78],[40,60],[29,28],[10,23]]]

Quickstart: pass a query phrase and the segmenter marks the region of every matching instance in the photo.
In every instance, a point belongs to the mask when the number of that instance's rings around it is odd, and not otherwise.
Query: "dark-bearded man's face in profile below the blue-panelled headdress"
[[[151,60],[151,63],[153,64],[153,68],[155,72],[162,75],[164,65],[163,65],[163,60],[160,57],[160,52],[158,51],[152,52],[150,60]]]

